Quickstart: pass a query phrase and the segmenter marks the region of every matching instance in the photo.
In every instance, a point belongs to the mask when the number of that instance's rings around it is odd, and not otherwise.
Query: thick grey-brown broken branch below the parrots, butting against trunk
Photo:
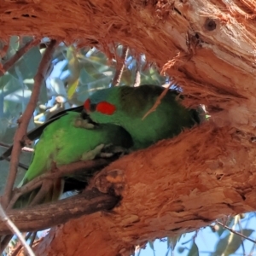
[[[109,211],[119,201],[119,197],[106,195],[97,189],[84,191],[70,198],[24,209],[9,210],[6,214],[21,232],[45,230],[64,224],[70,218],[99,211]],[[0,235],[10,234],[9,228],[0,222]]]

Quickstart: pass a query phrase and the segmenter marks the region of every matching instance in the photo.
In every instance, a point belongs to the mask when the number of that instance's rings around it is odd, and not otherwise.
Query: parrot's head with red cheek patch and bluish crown
[[[84,112],[98,124],[115,123],[119,125],[116,119],[119,110],[119,88],[117,87],[97,90],[84,102]]]

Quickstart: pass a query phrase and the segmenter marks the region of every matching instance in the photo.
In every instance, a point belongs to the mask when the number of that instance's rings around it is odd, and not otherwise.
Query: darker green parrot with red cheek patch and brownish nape
[[[160,105],[143,119],[163,90],[158,85],[98,90],[84,102],[84,111],[93,122],[125,128],[131,134],[133,149],[147,148],[200,123],[199,113],[183,107],[176,90],[168,90]]]

